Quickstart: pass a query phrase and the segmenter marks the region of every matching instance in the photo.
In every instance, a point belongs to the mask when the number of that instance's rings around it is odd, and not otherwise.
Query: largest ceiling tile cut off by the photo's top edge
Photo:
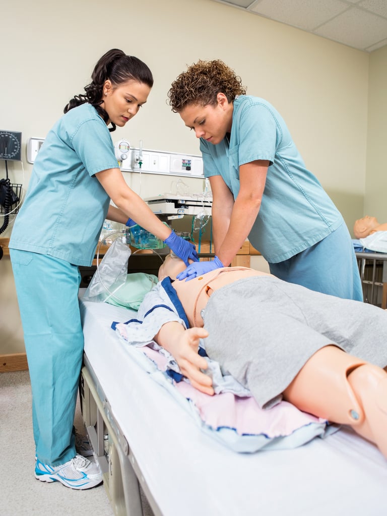
[[[346,9],[348,4],[340,0],[260,0],[249,10],[266,18],[287,23],[304,30],[313,30]]]

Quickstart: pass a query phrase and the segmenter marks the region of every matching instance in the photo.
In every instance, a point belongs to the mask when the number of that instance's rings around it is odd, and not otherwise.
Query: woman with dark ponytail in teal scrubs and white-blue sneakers
[[[187,265],[197,260],[193,244],[127,186],[114,155],[110,131],[137,115],[152,86],[137,57],[112,49],[99,59],[86,93],[74,96],[47,134],[9,243],[32,387],[35,476],[72,489],[102,481],[98,466],[75,449],[83,353],[78,265],[91,265],[105,218],[128,225],[133,218]]]

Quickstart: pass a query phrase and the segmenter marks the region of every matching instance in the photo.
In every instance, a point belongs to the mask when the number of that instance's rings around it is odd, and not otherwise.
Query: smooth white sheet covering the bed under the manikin
[[[88,360],[165,516],[387,514],[387,460],[376,446],[343,428],[291,450],[235,453],[129,356],[110,325],[135,312],[81,309]]]

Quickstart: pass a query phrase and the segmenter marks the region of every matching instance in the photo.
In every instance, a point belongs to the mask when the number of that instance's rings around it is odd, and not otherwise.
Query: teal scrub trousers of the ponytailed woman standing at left
[[[40,461],[76,455],[74,414],[83,354],[79,270],[52,256],[10,249],[32,388],[32,424]]]

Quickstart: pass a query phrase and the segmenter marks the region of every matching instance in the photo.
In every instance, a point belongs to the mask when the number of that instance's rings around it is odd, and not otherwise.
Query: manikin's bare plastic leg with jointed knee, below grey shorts
[[[351,425],[387,458],[387,373],[336,346],[319,349],[285,389],[304,412]]]

